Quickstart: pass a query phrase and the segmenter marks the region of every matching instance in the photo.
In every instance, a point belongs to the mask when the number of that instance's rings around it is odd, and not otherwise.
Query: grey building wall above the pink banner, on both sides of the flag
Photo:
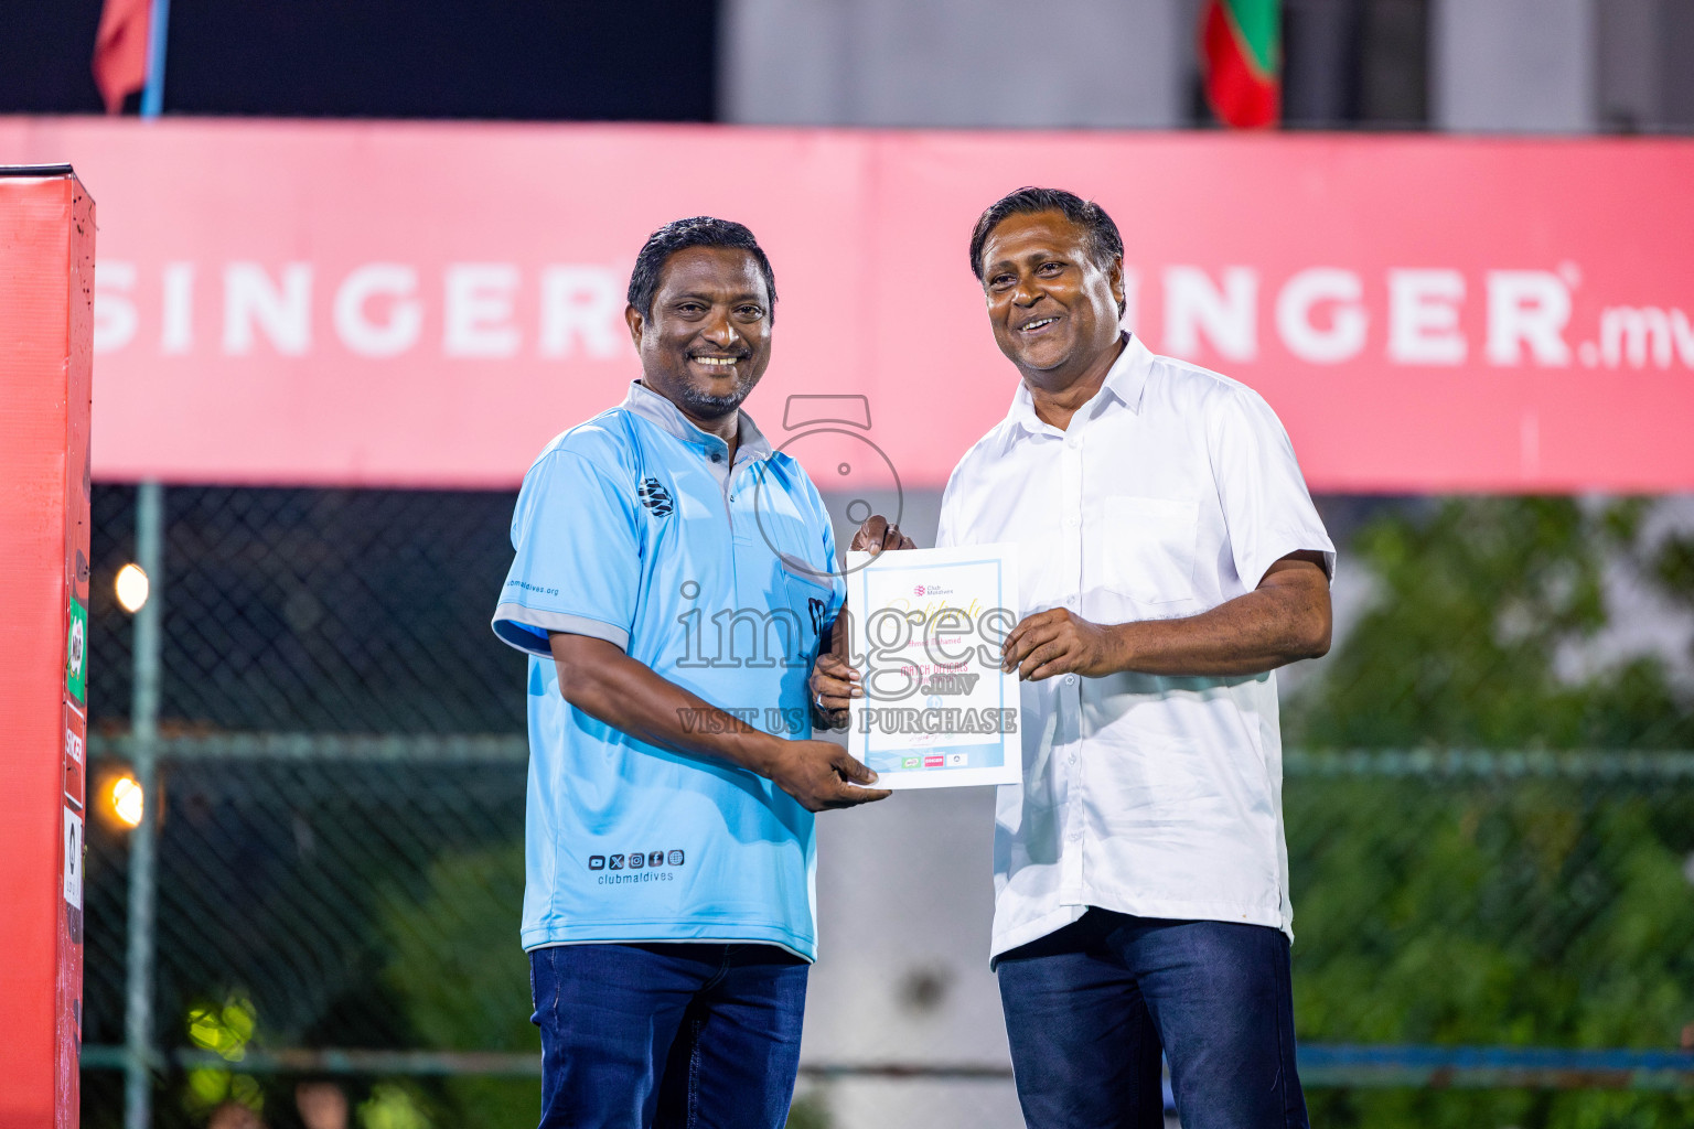
[[[1435,129],[1694,127],[1694,0],[1287,3],[1286,96],[1298,124],[1418,125],[1426,42]],[[720,115],[1181,129],[1191,124],[1199,8],[1201,0],[723,0]]]

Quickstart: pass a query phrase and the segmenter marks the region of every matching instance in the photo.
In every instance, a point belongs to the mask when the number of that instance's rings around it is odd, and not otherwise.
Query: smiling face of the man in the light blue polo
[[[664,262],[652,313],[623,311],[642,383],[696,423],[735,413],[771,364],[771,300],[754,257],[684,247]]]

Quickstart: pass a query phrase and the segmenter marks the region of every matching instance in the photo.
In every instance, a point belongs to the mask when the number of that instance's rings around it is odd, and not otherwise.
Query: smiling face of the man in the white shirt
[[[1015,213],[983,244],[983,289],[999,350],[1025,379],[1064,386],[1118,344],[1123,264],[1099,264],[1057,212]]]

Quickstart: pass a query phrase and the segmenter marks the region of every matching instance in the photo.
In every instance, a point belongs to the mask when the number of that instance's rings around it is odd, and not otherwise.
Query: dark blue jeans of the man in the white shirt
[[[1028,1129],[1306,1129],[1287,938],[1089,909],[998,963]]]

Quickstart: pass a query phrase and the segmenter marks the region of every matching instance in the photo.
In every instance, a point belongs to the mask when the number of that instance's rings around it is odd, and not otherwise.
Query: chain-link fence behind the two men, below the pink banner
[[[363,1129],[534,1121],[523,660],[486,626],[512,501],[163,491],[149,657],[110,596],[146,506],[97,487],[90,1126],[122,1122],[130,1065],[158,1126],[303,1124],[300,1087],[322,1083]],[[1377,509],[1352,537],[1372,592],[1286,719],[1303,745],[1377,745],[1287,758],[1315,1122],[1694,1124],[1694,758],[1664,752],[1694,745],[1679,674],[1581,653],[1618,560],[1680,599],[1680,542],[1643,540],[1645,508]],[[1596,733],[1650,752],[1506,752]],[[1492,750],[1389,748],[1465,735]],[[102,801],[141,762],[146,850]],[[989,812],[971,789],[820,821],[793,1124],[1021,1124],[986,970]]]

